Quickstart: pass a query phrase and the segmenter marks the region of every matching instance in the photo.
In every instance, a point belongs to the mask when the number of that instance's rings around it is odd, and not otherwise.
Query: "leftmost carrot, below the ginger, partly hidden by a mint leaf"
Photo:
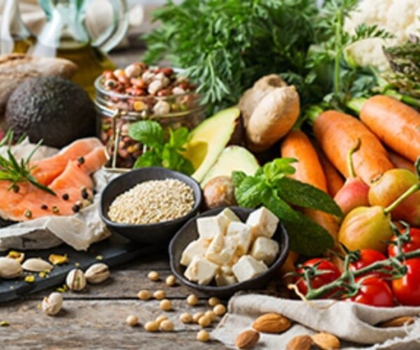
[[[309,185],[328,193],[321,162],[319,162],[314,146],[304,132],[292,130],[287,134],[281,143],[281,156],[297,159],[297,163],[292,164],[296,169],[292,176],[293,179],[309,183]],[[337,242],[338,221],[335,216],[314,209],[303,209],[303,213],[325,228]]]

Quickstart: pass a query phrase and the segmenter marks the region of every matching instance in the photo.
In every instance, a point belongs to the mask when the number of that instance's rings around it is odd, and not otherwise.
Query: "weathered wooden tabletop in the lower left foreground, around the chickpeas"
[[[170,274],[167,260],[165,254],[141,258],[111,270],[110,279],[100,285],[88,285],[82,293],[66,292],[63,309],[57,316],[47,316],[40,309],[43,297],[53,290],[1,304],[0,321],[8,321],[10,326],[0,327],[0,349],[225,349],[216,341],[205,345],[197,341],[200,325],[179,321],[182,312],[194,314],[210,307],[205,295],[196,293],[200,303],[191,307],[186,297],[194,290],[179,283],[166,285],[165,277]],[[146,275],[151,270],[158,271],[162,280],[149,281]],[[141,289],[165,290],[174,311],[160,310],[158,300],[139,300],[137,293]],[[141,325],[126,325],[125,318],[130,314],[137,315]],[[146,332],[144,323],[161,314],[174,321],[174,332]]]

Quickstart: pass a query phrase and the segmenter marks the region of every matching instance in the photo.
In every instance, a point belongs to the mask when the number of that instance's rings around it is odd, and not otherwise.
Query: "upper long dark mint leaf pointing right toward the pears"
[[[308,183],[283,177],[276,181],[275,186],[279,197],[290,204],[325,211],[336,216],[343,215],[337,203],[327,193]]]

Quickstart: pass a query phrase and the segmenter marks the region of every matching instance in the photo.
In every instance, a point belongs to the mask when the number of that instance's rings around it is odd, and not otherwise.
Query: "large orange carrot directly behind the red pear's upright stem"
[[[314,120],[314,134],[325,155],[345,178],[350,176],[347,153],[358,139],[361,146],[353,155],[356,176],[370,184],[394,167],[377,137],[360,120],[348,114],[339,111],[321,113]]]

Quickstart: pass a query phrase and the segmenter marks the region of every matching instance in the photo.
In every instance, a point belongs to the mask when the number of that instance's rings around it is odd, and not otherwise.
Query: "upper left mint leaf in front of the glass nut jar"
[[[165,137],[163,128],[153,120],[141,120],[133,123],[130,125],[128,135],[141,144],[158,149],[162,149]]]

